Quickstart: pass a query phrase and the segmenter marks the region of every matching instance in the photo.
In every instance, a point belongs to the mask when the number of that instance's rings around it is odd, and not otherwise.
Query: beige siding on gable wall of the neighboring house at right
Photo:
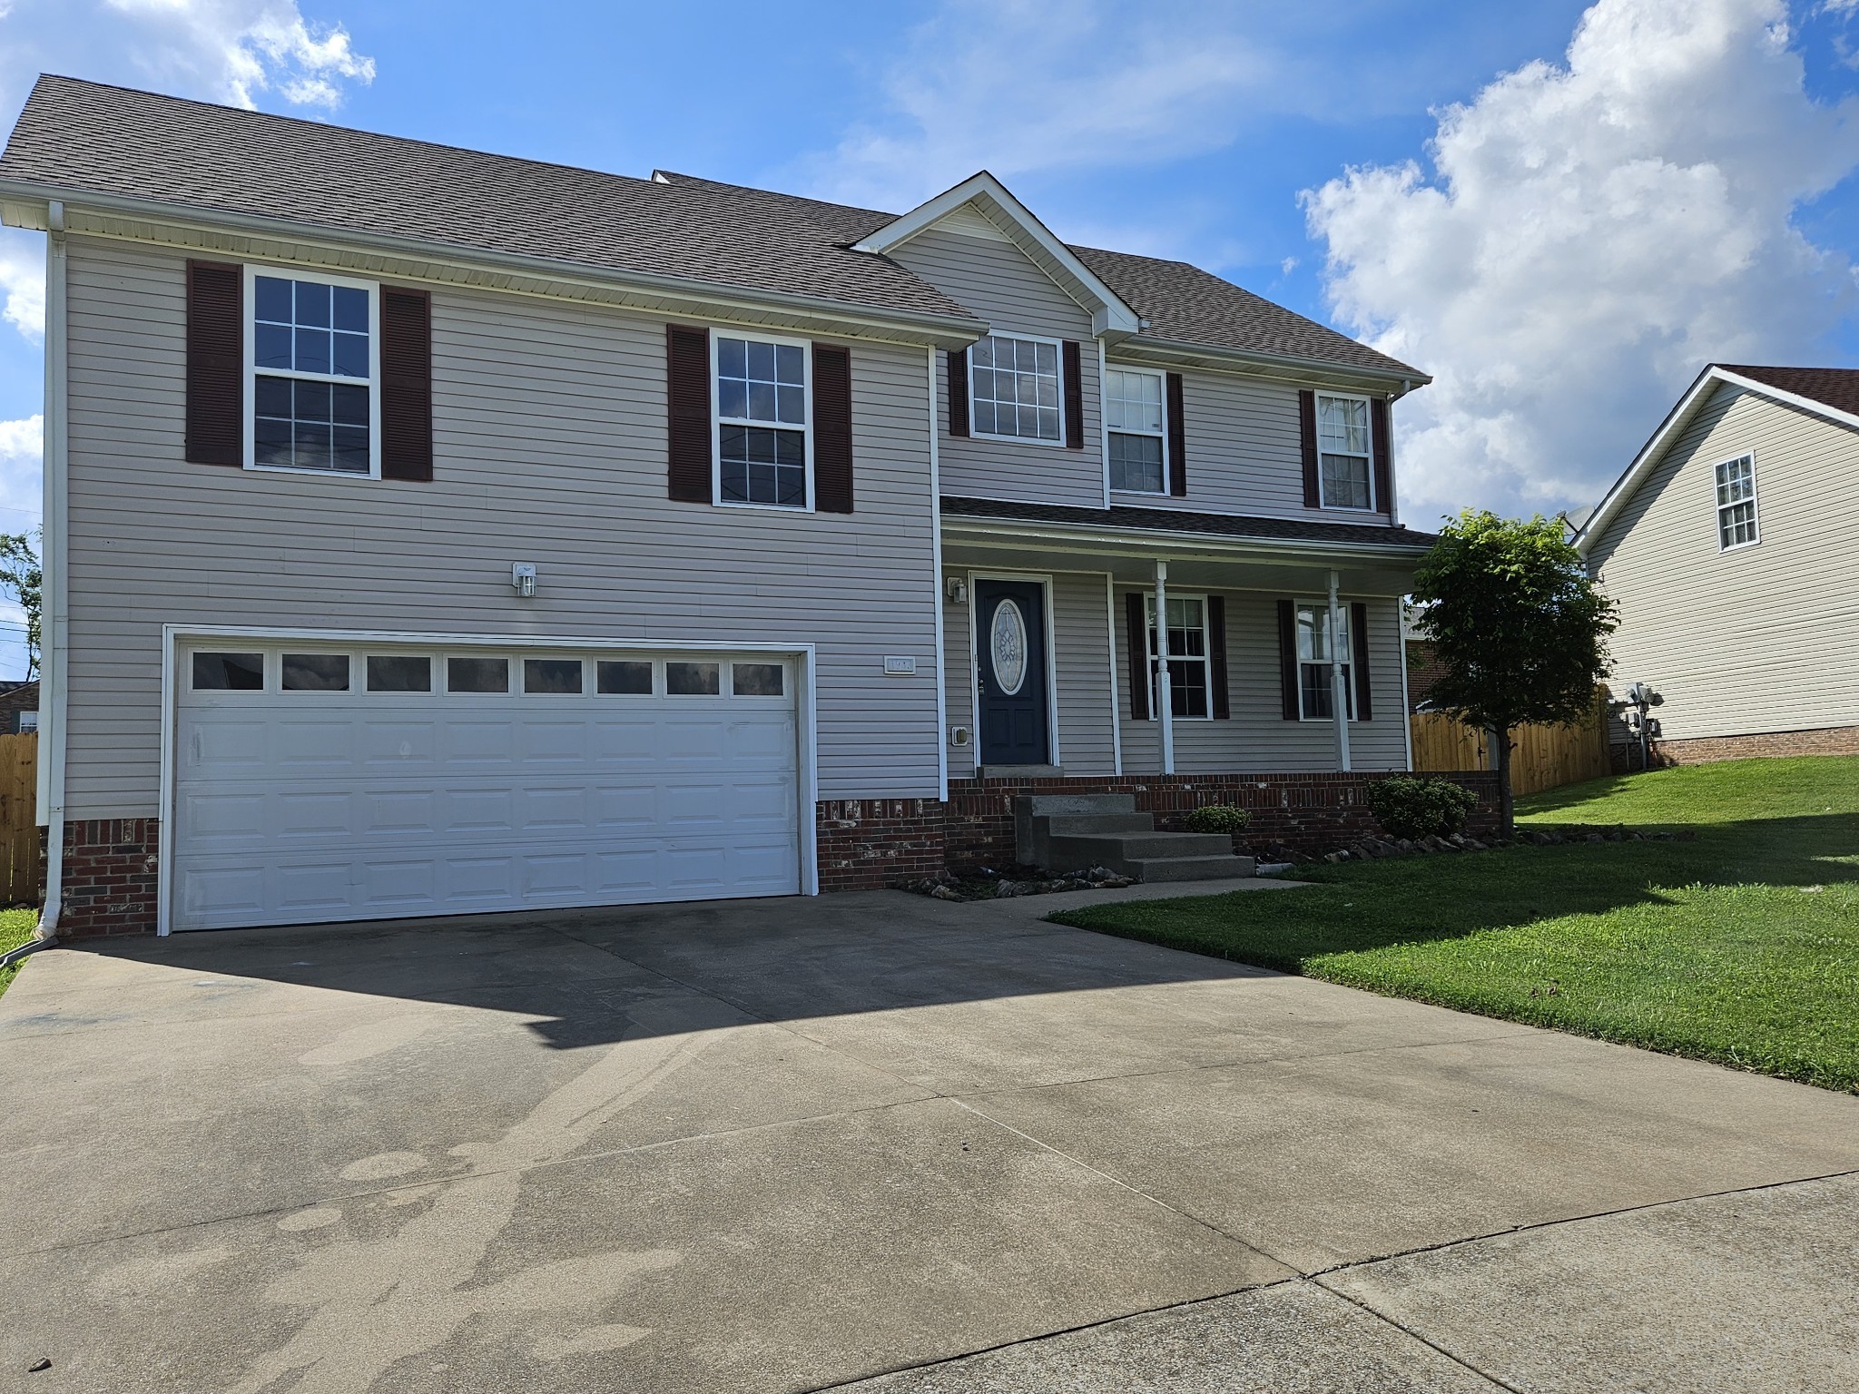
[[[1718,546],[1716,467],[1755,455],[1760,541]],[[1615,691],[1669,740],[1859,725],[1859,431],[1720,385],[1589,552]]]

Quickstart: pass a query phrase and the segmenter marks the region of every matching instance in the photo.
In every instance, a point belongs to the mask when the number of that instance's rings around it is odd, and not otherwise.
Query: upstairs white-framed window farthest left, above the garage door
[[[245,463],[381,474],[381,318],[370,281],[245,268]]]

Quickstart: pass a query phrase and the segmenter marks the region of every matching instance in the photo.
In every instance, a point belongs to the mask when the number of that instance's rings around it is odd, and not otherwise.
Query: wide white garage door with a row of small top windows
[[[801,888],[796,671],[751,654],[177,654],[173,927]]]

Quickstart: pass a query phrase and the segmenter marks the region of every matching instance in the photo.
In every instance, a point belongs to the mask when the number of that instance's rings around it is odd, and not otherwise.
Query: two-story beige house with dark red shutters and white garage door
[[[1409,764],[1428,377],[985,173],[892,216],[41,78],[0,212],[65,931],[883,885],[1011,859],[1013,792],[1314,825]]]

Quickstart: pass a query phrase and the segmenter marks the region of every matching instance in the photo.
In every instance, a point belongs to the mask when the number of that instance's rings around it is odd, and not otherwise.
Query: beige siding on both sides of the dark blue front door
[[[974,730],[974,582],[972,572],[952,567],[950,576],[969,584],[970,604],[948,606],[943,619],[944,671],[948,675],[948,721]],[[985,571],[983,574],[996,574]],[[1011,576],[1013,572],[998,572]],[[1026,576],[1041,580],[1045,576]],[[1110,712],[1110,632],[1104,615],[1104,576],[1060,572],[1050,578],[1052,677],[1058,693],[1058,755],[1067,775],[1114,775],[1115,732]],[[967,749],[950,749],[950,779],[970,779],[980,760],[980,732]]]

